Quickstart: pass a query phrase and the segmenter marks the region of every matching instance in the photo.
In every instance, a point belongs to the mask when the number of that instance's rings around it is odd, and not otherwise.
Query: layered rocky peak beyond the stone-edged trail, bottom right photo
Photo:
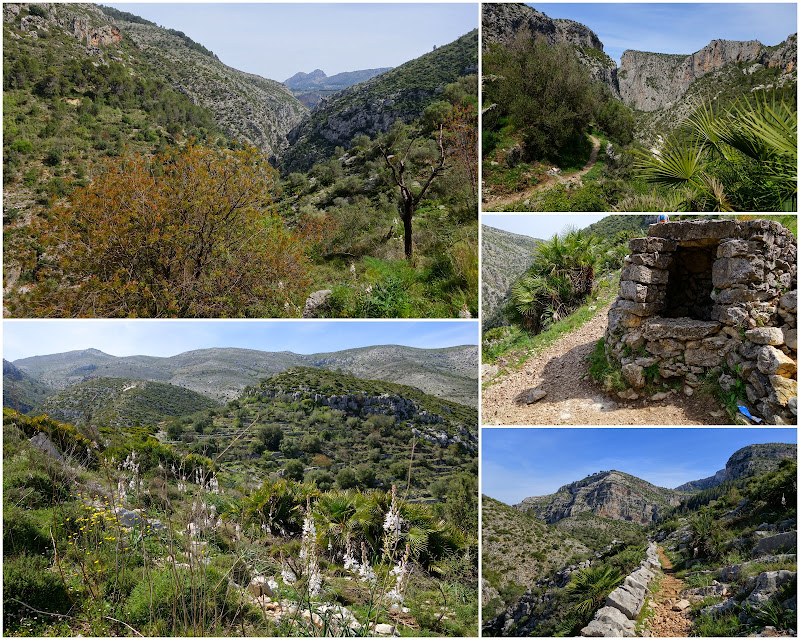
[[[667,507],[680,504],[681,495],[620,471],[596,473],[561,487],[549,496],[525,498],[514,505],[533,511],[548,524],[584,511],[612,520],[650,524]]]

